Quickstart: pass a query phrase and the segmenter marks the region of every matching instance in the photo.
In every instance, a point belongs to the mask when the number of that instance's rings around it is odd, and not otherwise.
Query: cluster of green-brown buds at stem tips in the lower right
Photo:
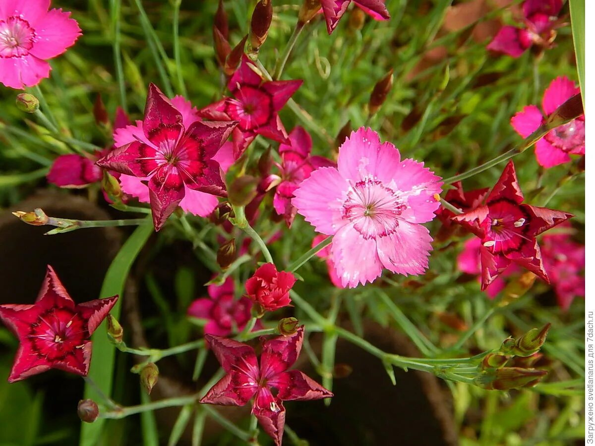
[[[474,378],[475,385],[487,390],[510,390],[533,387],[540,382],[547,371],[533,366],[541,359],[537,352],[546,341],[550,326],[547,323],[543,328],[530,329],[516,340],[508,338],[499,351],[484,356],[478,368],[481,372]]]

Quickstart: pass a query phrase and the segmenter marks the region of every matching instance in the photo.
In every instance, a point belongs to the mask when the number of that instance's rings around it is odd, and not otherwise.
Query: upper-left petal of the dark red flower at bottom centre
[[[227,373],[242,372],[255,378],[255,381],[258,379],[258,362],[252,347],[233,339],[209,334],[205,335],[205,340]]]

